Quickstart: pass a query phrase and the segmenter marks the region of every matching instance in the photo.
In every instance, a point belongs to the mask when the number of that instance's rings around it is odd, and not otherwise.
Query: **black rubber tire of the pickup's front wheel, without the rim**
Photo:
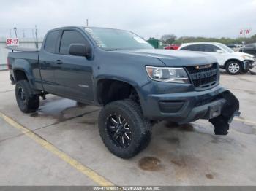
[[[111,115],[124,117],[131,130],[128,147],[117,145],[108,131],[108,118]],[[143,116],[140,106],[132,100],[113,101],[102,108],[99,113],[99,134],[103,143],[114,155],[121,158],[134,157],[145,149],[151,141],[151,124]]]

